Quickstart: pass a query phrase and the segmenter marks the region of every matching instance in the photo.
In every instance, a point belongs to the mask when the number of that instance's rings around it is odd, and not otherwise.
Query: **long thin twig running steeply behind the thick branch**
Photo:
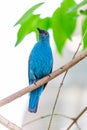
[[[75,56],[77,55],[77,53],[78,53],[78,51],[79,51],[79,49],[80,49],[80,46],[81,46],[81,44],[82,44],[82,41],[83,41],[83,39],[84,39],[86,33],[87,33],[87,29],[86,29],[86,31],[85,31],[85,33],[84,33],[82,39],[81,39],[81,42],[80,42],[79,45],[78,45],[78,48],[76,49],[76,51],[75,51],[75,53],[74,53],[72,59],[74,59]],[[52,123],[54,111],[55,111],[55,108],[56,108],[56,104],[57,104],[57,101],[58,101],[58,98],[59,98],[59,95],[60,95],[60,91],[61,91],[61,88],[62,88],[62,86],[63,86],[63,83],[64,83],[64,80],[65,80],[65,78],[66,78],[67,73],[68,73],[68,69],[66,70],[66,72],[65,72],[65,74],[64,74],[64,76],[63,76],[63,79],[62,79],[62,81],[61,81],[61,83],[60,83],[59,89],[58,89],[58,93],[57,93],[57,96],[56,96],[56,99],[55,99],[55,102],[54,102],[54,105],[53,105],[52,114],[51,114],[51,118],[50,118],[49,125],[48,125],[48,130],[50,130],[50,128],[51,128],[51,123]]]

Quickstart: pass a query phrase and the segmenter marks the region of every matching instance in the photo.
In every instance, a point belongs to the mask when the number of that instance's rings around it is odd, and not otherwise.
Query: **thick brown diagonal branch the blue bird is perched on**
[[[3,105],[6,105],[7,103],[10,103],[11,101],[15,100],[16,98],[19,98],[21,96],[23,96],[24,94],[31,92],[32,90],[40,87],[42,84],[45,84],[47,82],[49,82],[50,80],[54,79],[55,77],[59,76],[60,74],[62,74],[63,72],[65,72],[66,70],[70,69],[71,67],[73,67],[75,64],[77,64],[78,62],[80,62],[82,59],[84,59],[85,57],[87,57],[87,50],[82,52],[79,56],[75,57],[74,59],[72,59],[70,62],[68,62],[67,64],[65,64],[64,66],[60,67],[59,69],[57,69],[56,71],[54,71],[53,73],[50,74],[50,76],[46,76],[44,78],[42,78],[41,80],[36,82],[35,84],[32,84],[2,100],[0,100],[0,107]]]

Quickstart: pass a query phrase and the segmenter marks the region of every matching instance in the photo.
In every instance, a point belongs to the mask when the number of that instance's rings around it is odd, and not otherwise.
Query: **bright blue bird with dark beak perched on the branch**
[[[37,28],[37,30],[39,39],[31,50],[28,59],[28,79],[30,85],[50,75],[53,68],[53,54],[49,42],[49,33],[41,28]],[[37,112],[39,98],[46,85],[47,83],[30,92],[29,112]]]

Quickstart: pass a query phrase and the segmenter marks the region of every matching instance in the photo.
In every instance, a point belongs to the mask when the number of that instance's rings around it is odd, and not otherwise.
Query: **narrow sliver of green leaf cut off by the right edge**
[[[83,47],[87,48],[87,16],[82,24]]]

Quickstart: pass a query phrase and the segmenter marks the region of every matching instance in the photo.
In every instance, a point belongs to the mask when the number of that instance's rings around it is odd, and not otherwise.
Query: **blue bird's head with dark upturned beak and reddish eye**
[[[47,40],[49,39],[49,33],[46,30],[37,28],[38,32],[39,32],[39,39],[40,40]]]

